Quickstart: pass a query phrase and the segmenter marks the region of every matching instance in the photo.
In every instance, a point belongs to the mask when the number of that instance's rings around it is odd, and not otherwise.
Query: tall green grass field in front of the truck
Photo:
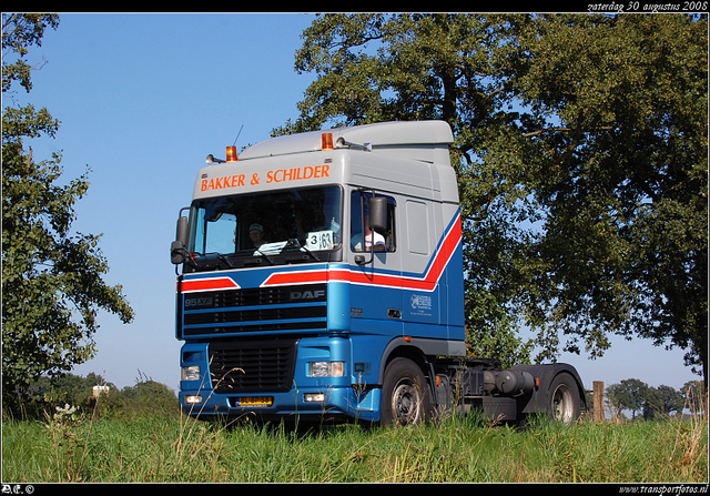
[[[2,424],[12,483],[706,483],[702,421],[539,422],[525,431],[468,418],[397,429],[298,433],[180,416]]]

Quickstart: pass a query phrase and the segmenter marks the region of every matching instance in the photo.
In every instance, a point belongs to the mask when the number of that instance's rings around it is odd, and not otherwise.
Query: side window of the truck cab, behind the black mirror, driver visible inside
[[[378,195],[379,196],[379,195]],[[353,252],[369,251],[373,236],[376,252],[394,252],[397,249],[395,236],[395,209],[396,202],[392,196],[387,198],[387,231],[376,233],[369,229],[369,199],[372,193],[353,191],[351,195],[351,249]],[[363,230],[365,231],[365,244],[363,246]]]

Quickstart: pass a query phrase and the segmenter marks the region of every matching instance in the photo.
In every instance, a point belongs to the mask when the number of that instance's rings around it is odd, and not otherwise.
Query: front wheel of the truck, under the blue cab
[[[422,370],[408,358],[395,358],[385,370],[382,426],[416,425],[432,414],[432,395]]]

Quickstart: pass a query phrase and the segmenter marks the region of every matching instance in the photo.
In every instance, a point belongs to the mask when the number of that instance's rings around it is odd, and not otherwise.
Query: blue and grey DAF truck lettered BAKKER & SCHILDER
[[[443,121],[383,122],[207,155],[171,245],[185,413],[393,425],[586,409],[571,365],[466,356],[453,142]]]

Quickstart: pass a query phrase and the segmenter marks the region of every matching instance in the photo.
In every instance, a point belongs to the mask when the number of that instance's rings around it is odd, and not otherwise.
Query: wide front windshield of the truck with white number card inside
[[[190,214],[192,259],[266,257],[341,247],[339,186],[270,191],[196,200]],[[283,262],[283,261],[277,261]]]

